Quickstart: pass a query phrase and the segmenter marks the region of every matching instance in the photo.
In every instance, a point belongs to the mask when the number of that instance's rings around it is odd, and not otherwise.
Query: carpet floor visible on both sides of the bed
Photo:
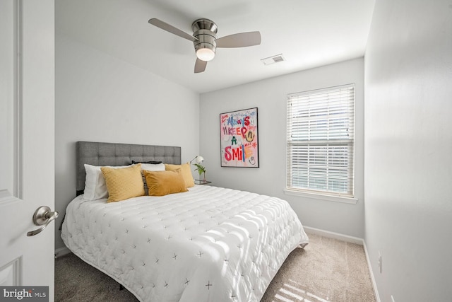
[[[374,302],[362,245],[309,234],[294,250],[261,302]],[[126,289],[73,254],[55,260],[55,301],[137,301]],[[195,301],[194,301],[195,302]]]

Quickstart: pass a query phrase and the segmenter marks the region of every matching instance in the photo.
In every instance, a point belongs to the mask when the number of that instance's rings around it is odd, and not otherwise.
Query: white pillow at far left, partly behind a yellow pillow
[[[131,165],[119,165],[111,168],[127,168]],[[110,166],[109,166],[110,167]],[[107,185],[105,184],[105,178],[100,170],[100,166],[88,165],[85,163],[85,191],[83,192],[83,199],[97,200],[108,197]]]

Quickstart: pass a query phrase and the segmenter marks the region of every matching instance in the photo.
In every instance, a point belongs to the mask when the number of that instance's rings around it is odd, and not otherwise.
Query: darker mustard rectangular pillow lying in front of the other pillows
[[[167,171],[143,170],[150,196],[164,196],[188,191],[181,169]]]

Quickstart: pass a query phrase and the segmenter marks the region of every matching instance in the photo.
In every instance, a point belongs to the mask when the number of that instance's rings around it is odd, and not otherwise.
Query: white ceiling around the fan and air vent
[[[198,93],[362,57],[375,0],[57,0],[57,32]],[[261,45],[221,48],[194,74],[193,43],[148,23],[192,34],[209,18],[218,37],[258,30]],[[285,62],[260,61],[283,54]]]

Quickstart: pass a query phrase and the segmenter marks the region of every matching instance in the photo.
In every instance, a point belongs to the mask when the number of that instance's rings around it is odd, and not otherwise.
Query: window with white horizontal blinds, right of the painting
[[[355,84],[287,95],[287,190],[353,197]]]

